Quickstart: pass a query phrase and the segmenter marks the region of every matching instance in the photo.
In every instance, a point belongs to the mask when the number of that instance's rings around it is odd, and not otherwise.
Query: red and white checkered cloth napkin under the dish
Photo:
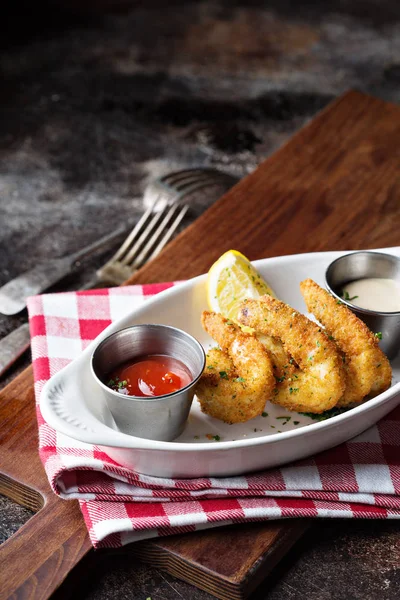
[[[170,284],[29,299],[36,399],[44,383],[110,322]],[[281,469],[229,478],[140,475],[60,434],[37,408],[50,484],[77,498],[95,547],[217,525],[287,517],[400,518],[400,407],[365,433]],[[217,442],[216,442],[217,443]]]

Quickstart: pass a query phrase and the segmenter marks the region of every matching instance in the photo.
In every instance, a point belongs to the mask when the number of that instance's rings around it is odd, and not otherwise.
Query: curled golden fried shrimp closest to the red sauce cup
[[[275,386],[267,350],[254,335],[218,313],[203,312],[201,322],[220,346],[207,353],[197,384],[201,410],[226,423],[260,415]]]

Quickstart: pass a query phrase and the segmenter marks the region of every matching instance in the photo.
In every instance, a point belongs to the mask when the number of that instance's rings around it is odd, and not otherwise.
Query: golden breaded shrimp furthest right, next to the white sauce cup
[[[307,309],[325,327],[343,353],[346,389],[338,406],[358,404],[385,391],[392,380],[387,357],[377,337],[347,306],[319,287],[312,279],[300,284]]]

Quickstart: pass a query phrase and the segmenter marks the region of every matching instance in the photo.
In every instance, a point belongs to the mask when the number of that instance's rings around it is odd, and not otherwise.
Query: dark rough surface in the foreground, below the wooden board
[[[399,530],[398,521],[320,520],[251,598],[395,600],[400,585]],[[69,590],[77,586],[87,600],[213,598],[121,553],[92,557],[75,574],[74,585],[67,582],[54,600],[69,598]]]

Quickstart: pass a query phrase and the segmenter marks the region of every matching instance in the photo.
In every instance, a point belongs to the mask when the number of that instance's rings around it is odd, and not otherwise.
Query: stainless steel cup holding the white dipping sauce
[[[328,291],[346,304],[373,333],[380,332],[379,343],[388,358],[394,358],[400,348],[400,311],[383,312],[360,308],[341,297],[351,281],[369,277],[400,281],[400,258],[383,252],[352,252],[334,260],[325,273]]]

